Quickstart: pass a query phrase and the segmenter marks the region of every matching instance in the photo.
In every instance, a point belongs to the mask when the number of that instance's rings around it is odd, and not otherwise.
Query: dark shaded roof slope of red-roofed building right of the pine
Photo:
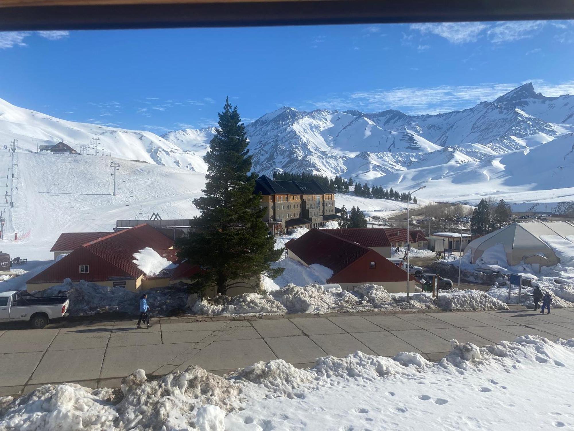
[[[311,229],[297,240],[289,241],[285,247],[306,264],[323,265],[333,271],[333,275],[370,251],[370,248],[351,243],[326,231],[327,229]]]

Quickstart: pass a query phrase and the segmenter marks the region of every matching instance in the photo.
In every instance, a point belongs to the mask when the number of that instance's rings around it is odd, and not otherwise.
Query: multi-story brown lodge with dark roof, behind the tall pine
[[[267,209],[263,221],[275,235],[299,227],[317,228],[335,214],[335,193],[315,180],[274,181],[266,175],[256,180],[255,193],[261,192],[261,207]]]

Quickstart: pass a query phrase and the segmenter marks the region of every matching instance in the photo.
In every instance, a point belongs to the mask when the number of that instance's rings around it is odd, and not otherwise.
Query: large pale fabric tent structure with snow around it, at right
[[[544,241],[546,235],[571,241],[574,225],[565,221],[513,223],[471,241],[467,251],[471,253],[471,263],[476,263],[487,249],[502,244],[510,266],[518,265],[521,261],[540,266],[556,265],[560,263],[560,258]]]

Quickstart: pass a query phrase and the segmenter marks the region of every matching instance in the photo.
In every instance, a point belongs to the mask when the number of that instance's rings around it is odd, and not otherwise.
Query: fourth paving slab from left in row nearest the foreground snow
[[[277,359],[277,356],[274,355],[261,338],[215,341],[203,348],[189,361],[181,364],[177,370],[183,371],[191,364],[199,365],[208,371],[231,370],[247,367],[247,365],[254,364],[257,361],[266,362],[273,359]]]

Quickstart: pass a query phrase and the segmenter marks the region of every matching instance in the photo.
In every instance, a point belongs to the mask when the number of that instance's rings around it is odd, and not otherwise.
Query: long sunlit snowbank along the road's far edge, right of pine
[[[441,291],[438,299],[430,293],[415,293],[410,305],[405,294],[390,294],[382,286],[364,284],[355,290],[308,284],[288,284],[267,293],[249,293],[233,298],[197,299],[189,303],[193,313],[204,315],[331,313],[333,311],[374,311],[406,309],[505,310],[507,306],[482,291],[456,288]]]

